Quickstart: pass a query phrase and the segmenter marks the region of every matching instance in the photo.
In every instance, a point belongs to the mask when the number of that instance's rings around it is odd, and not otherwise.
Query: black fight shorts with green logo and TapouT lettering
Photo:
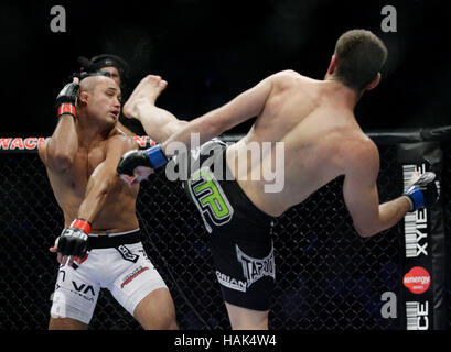
[[[233,179],[227,145],[203,144],[184,184],[211,233],[217,280],[226,302],[269,310],[276,280],[272,218],[259,210]]]

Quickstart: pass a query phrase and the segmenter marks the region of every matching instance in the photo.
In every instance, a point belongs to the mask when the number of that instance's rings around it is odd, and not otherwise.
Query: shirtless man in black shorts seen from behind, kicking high
[[[280,217],[339,176],[344,176],[344,201],[362,237],[375,235],[398,223],[407,212],[437,201],[434,174],[425,173],[412,179],[404,195],[379,204],[378,150],[359,128],[354,108],[366,90],[378,85],[386,57],[387,50],[376,35],[353,30],[337,40],[323,80],[293,70],[280,72],[190,123],[162,118],[154,99],[147,98],[158,91],[152,87],[154,78],[149,76],[126,103],[125,116],[140,117],[146,131],[155,131],[155,141],[161,143],[122,155],[118,173],[129,184],[165,165],[175,145],[192,150],[193,135],[202,145],[257,117],[248,133],[223,151],[222,161],[226,161],[235,180],[216,182],[214,173],[202,167],[197,178],[190,175],[190,189],[197,193],[195,201],[204,218],[210,218],[206,222],[213,232],[219,283],[234,329],[268,328],[270,289],[266,285],[272,287],[275,273],[270,217]],[[246,155],[250,147],[261,153],[249,162]],[[265,176],[270,176],[271,169],[275,179]],[[261,177],[251,177],[255,172],[262,173]],[[224,223],[215,223],[218,219]]]

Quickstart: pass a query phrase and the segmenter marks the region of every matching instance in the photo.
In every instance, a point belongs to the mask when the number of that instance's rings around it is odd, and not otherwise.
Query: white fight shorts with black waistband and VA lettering
[[[147,257],[139,229],[110,234],[89,234],[89,252],[73,267],[60,265],[52,295],[52,317],[89,323],[100,288],[133,315],[136,306],[151,292],[168,288]]]

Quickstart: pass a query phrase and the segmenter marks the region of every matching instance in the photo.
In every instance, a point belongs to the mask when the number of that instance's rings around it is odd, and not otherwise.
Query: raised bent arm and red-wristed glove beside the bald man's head
[[[75,102],[78,94],[78,82],[66,85],[56,98],[56,129],[39,150],[39,155],[46,167],[64,172],[74,162],[78,150],[78,138],[75,128]]]

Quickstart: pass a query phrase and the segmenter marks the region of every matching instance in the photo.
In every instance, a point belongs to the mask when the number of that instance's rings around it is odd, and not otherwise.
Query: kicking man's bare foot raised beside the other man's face
[[[160,76],[148,75],[141,79],[135,88],[130,98],[124,105],[122,112],[127,118],[139,117],[139,107],[142,105],[155,105],[157,98],[168,86],[168,82],[161,79]]]

